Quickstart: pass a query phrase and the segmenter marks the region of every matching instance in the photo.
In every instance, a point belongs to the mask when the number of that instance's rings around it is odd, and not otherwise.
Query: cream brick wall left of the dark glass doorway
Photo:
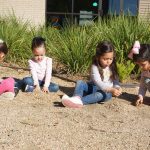
[[[0,0],[0,15],[28,20],[33,26],[45,24],[46,0]]]

